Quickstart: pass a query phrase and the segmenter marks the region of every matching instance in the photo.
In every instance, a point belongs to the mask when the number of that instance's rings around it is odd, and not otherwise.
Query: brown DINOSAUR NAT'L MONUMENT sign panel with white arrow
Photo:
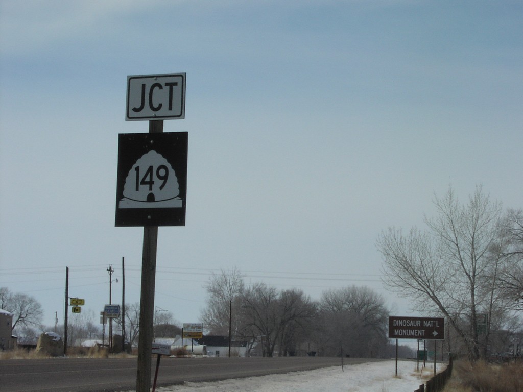
[[[445,339],[445,319],[439,317],[389,317],[391,339]]]

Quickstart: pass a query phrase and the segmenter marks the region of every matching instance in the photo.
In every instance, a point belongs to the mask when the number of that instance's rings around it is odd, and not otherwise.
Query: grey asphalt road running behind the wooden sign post
[[[368,362],[345,358],[344,364]],[[131,391],[136,388],[138,360],[54,358],[0,361],[2,392],[97,392]],[[168,358],[163,356],[156,386],[184,381],[218,381],[227,378],[260,376],[339,366],[340,358]],[[152,378],[156,355],[152,360]]]

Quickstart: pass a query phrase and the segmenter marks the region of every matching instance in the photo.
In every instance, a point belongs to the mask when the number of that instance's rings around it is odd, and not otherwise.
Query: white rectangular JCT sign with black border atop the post
[[[185,118],[185,73],[127,77],[126,121]]]

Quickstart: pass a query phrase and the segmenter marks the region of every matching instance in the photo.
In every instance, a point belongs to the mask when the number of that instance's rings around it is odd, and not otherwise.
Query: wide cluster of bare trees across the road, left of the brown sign
[[[313,301],[299,289],[245,286],[241,271],[213,274],[202,321],[210,335],[248,342],[260,355],[386,356],[389,310],[367,287],[330,290]],[[231,313],[232,312],[232,313]]]

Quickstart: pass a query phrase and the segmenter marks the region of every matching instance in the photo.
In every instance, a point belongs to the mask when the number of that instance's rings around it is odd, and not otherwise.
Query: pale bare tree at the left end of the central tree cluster
[[[229,322],[232,322],[232,334],[241,329],[241,297],[244,290],[243,276],[234,267],[230,271],[222,270],[212,274],[205,286],[207,307],[202,312],[202,321],[211,335],[229,335]],[[232,317],[230,310],[232,308]]]

